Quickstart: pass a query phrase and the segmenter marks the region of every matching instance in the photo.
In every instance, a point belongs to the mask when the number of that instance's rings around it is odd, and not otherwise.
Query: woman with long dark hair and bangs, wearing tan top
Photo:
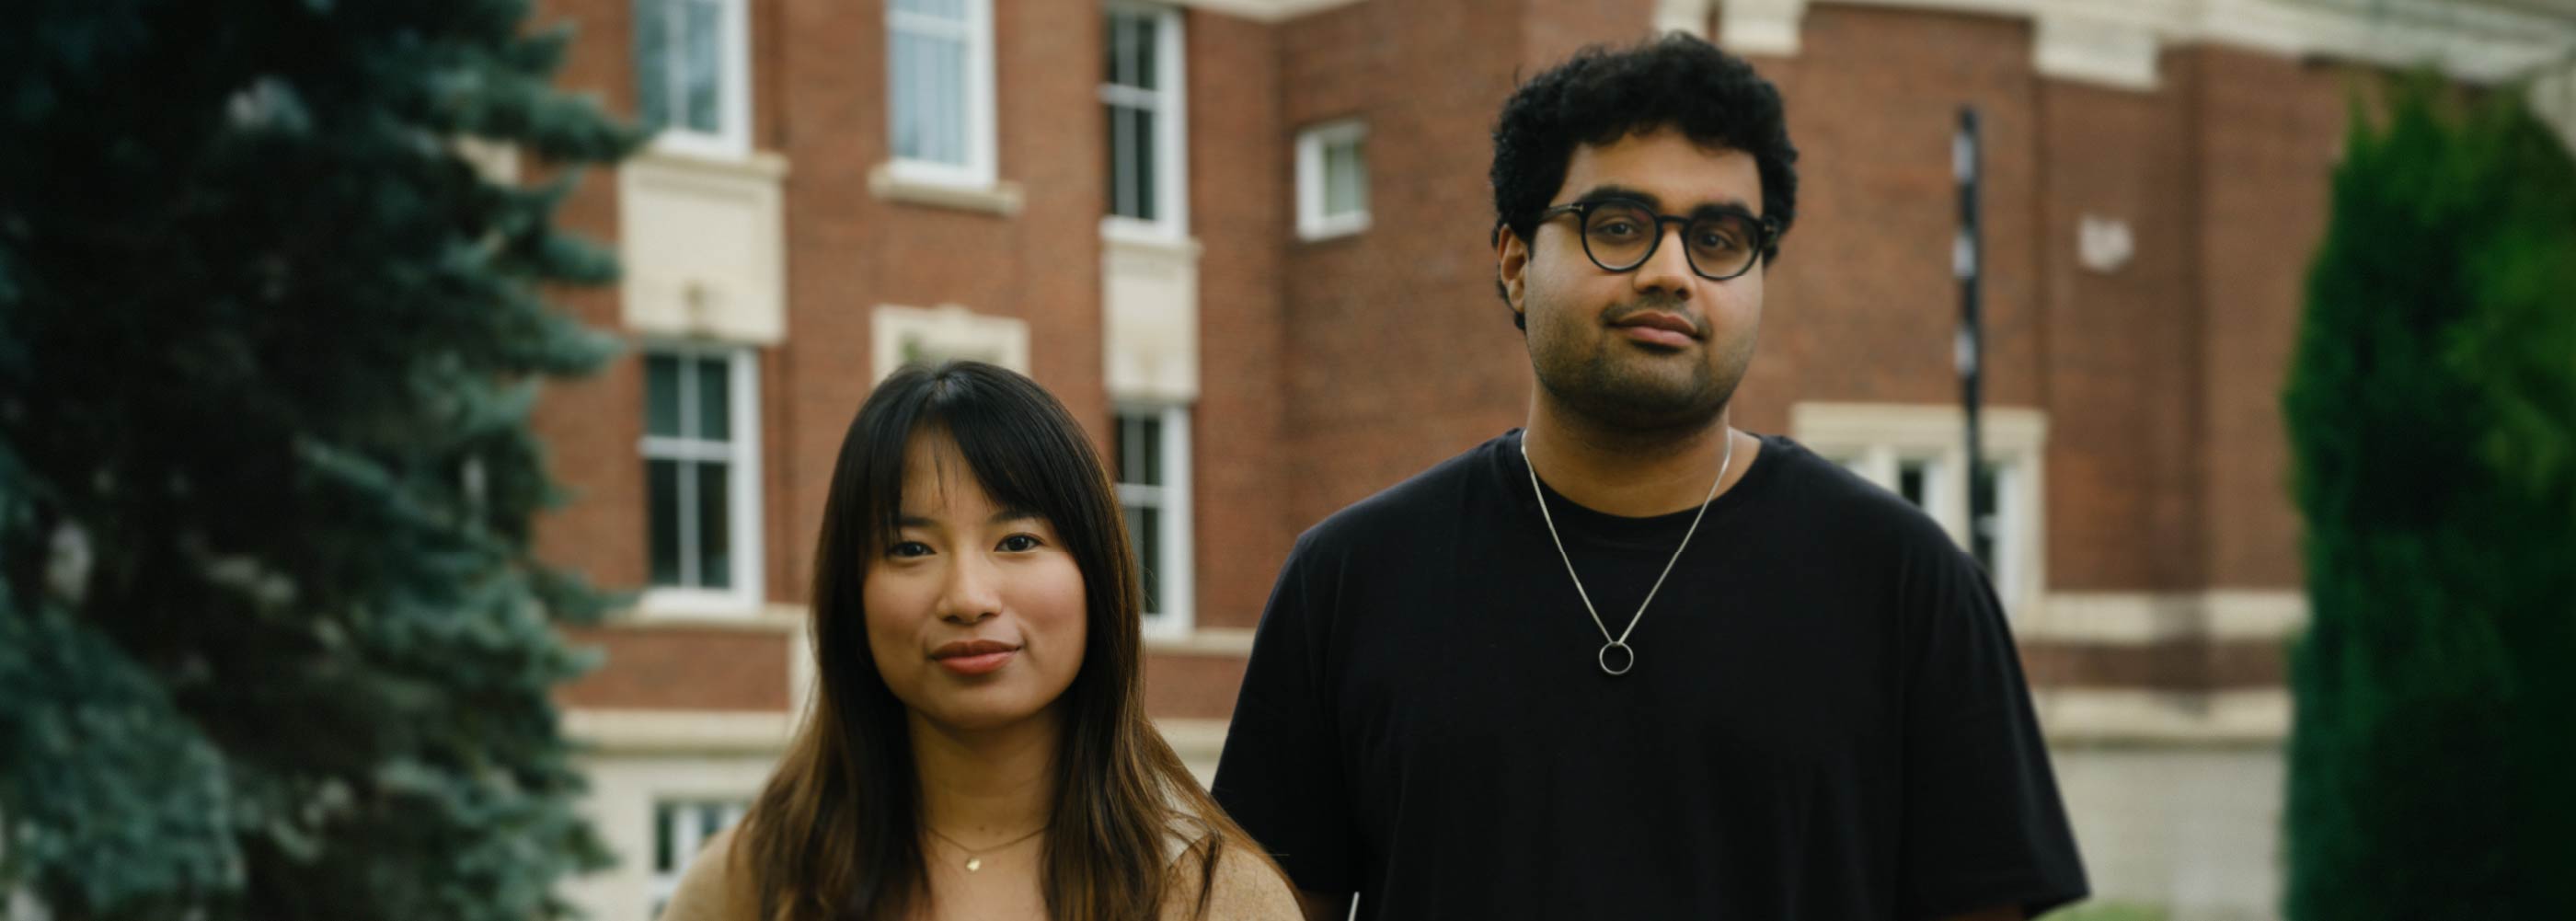
[[[1113,489],[1018,373],[886,378],[824,502],[811,713],[662,918],[1298,918],[1144,718]]]

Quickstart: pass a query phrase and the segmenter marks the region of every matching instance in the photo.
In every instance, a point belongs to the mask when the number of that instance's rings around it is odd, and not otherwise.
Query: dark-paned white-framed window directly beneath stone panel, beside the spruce
[[[760,394],[750,347],[644,350],[649,612],[760,610]]]

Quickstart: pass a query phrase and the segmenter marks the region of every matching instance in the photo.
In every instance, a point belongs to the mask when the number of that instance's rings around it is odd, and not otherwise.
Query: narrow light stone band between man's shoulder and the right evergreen
[[[2287,589],[2050,592],[2014,612],[2022,643],[2151,646],[2166,641],[2287,641],[2308,625],[2308,597]]]

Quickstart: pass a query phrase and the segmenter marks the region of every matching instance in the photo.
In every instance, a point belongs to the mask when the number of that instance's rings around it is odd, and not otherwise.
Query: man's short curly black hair
[[[1512,90],[1494,123],[1494,232],[1510,226],[1520,239],[1538,232],[1538,211],[1566,183],[1574,147],[1664,126],[1754,157],[1762,216],[1775,229],[1762,262],[1777,260],[1780,234],[1798,219],[1798,149],[1788,141],[1780,90],[1744,59],[1687,33],[1628,49],[1589,46]]]

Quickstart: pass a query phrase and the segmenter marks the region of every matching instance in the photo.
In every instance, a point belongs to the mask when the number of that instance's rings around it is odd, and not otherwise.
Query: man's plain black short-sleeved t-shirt
[[[1520,432],[1324,520],[1270,594],[1216,800],[1363,918],[1937,918],[2084,895],[1984,574],[1765,437],[1602,674]],[[1690,527],[1548,491],[1610,633]]]

